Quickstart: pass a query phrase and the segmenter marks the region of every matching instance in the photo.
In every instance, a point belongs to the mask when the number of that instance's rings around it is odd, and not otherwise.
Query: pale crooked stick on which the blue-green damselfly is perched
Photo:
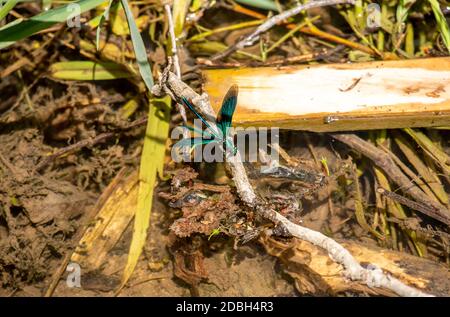
[[[159,84],[153,87],[152,93],[159,96],[167,93],[175,100],[180,100],[181,97],[188,98],[192,101],[192,105],[196,111],[204,115],[208,123],[217,129],[215,121],[212,119],[215,117],[214,110],[209,103],[208,96],[206,94],[198,95],[168,70],[161,75]],[[320,232],[294,224],[275,210],[267,208],[266,205],[258,201],[248,180],[247,172],[239,152],[234,156],[229,155],[227,157],[227,164],[231,169],[238,195],[247,206],[255,209],[261,216],[276,223],[283,224],[292,236],[308,241],[326,250],[333,261],[343,266],[344,275],[347,278],[360,281],[369,287],[389,289],[400,296],[432,296],[405,285],[398,279],[383,273],[379,268],[373,266],[368,266],[368,268],[362,267],[347,249],[333,239]]]

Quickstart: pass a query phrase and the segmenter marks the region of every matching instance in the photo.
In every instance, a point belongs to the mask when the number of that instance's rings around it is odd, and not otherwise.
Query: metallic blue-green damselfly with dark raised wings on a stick
[[[222,107],[220,108],[220,112],[216,118],[217,129],[212,128],[208,121],[201,114],[199,114],[197,110],[195,110],[192,103],[185,97],[182,97],[181,101],[183,102],[183,104],[188,107],[189,110],[191,110],[203,122],[203,124],[205,124],[210,132],[201,131],[195,127],[185,126],[190,131],[199,133],[201,137],[183,139],[177,142],[175,146],[182,148],[189,145],[192,152],[196,146],[217,142],[223,145],[225,151],[227,151],[227,149],[231,149],[233,155],[236,155],[237,148],[234,146],[229,132],[231,128],[231,121],[233,120],[233,114],[236,110],[237,95],[238,86],[231,86],[227,94],[223,98]]]

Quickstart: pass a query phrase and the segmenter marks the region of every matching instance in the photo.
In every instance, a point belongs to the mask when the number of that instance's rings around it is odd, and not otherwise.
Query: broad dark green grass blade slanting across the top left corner
[[[80,0],[76,3],[80,6],[80,12],[89,11],[105,0]],[[27,38],[39,31],[45,30],[56,23],[64,22],[73,14],[68,10],[70,4],[40,13],[30,19],[19,23],[13,21],[0,30],[0,49],[8,47],[17,41]]]

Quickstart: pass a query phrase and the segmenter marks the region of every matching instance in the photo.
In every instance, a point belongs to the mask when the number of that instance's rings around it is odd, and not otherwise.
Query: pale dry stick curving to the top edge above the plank
[[[225,58],[229,56],[230,54],[234,53],[237,50],[242,50],[247,46],[253,45],[263,34],[264,32],[267,32],[269,29],[273,28],[275,25],[280,24],[284,20],[293,17],[294,15],[299,14],[300,12],[304,10],[309,10],[312,8],[317,7],[325,7],[325,6],[332,6],[336,4],[354,4],[354,0],[316,0],[316,1],[310,1],[306,4],[298,5],[290,10],[284,11],[280,14],[274,15],[270,19],[268,19],[266,22],[258,26],[258,28],[253,32],[252,34],[246,36],[243,40],[239,41],[238,43],[230,46],[223,52],[217,53],[214,56],[211,57],[211,60],[216,61],[222,58]]]

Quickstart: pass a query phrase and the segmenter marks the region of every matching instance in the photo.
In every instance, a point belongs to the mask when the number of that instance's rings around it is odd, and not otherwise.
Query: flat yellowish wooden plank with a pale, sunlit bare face
[[[234,126],[349,131],[450,125],[450,57],[203,72],[213,107],[239,86]]]

